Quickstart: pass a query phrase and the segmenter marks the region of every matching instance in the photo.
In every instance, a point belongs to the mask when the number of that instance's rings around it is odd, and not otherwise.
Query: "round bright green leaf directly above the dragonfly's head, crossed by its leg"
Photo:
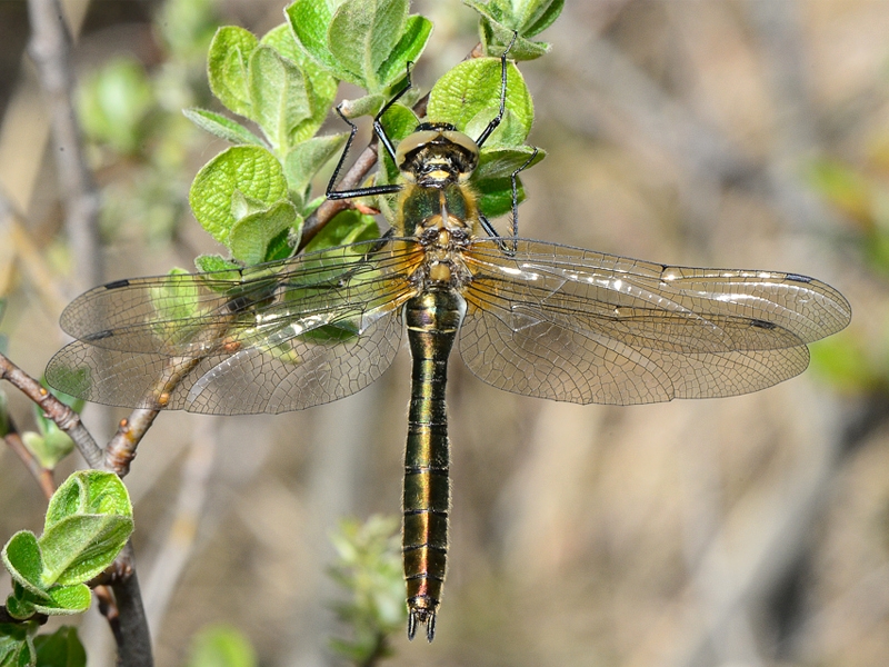
[[[473,58],[447,72],[429,93],[427,116],[450,122],[470,137],[478,137],[500,109],[500,60]],[[519,146],[533,123],[533,102],[525,79],[513,63],[507,64],[507,113],[490,136],[486,149]]]

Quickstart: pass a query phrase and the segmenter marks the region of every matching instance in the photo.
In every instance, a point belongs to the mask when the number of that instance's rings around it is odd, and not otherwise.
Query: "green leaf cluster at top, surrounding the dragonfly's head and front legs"
[[[208,57],[210,88],[243,121],[206,109],[186,111],[196,125],[233,145],[200,170],[189,193],[194,217],[230,253],[229,258],[199,257],[200,270],[272,261],[296,251],[304,219],[321,201],[311,198],[312,180],[346,141],[344,132],[317,136],[339,82],[367,92],[343,101],[348,117],[374,116],[403,88],[409,64],[426,48],[432,24],[410,14],[409,4],[408,0],[297,0],[284,10],[286,21],[260,38],[237,27],[217,31]],[[532,57],[528,53],[533,49],[538,54],[546,51],[526,37],[549,26],[562,7],[552,0],[467,4],[480,13],[482,36],[500,34],[499,27],[506,26],[506,43],[517,34],[510,57],[525,53],[526,58]],[[492,39],[485,43],[493,43]],[[497,115],[500,92],[499,58],[469,60],[432,88],[428,118],[478,136]],[[401,104],[382,119],[396,141],[418,122]],[[532,153],[525,145],[532,122],[530,93],[519,70],[510,64],[506,115],[486,143],[482,165],[472,179],[489,217],[511,208],[510,175]],[[394,166],[388,156],[380,157],[377,182],[394,182]],[[542,158],[541,151],[535,162]],[[521,188],[519,197],[523,197]],[[378,206],[390,219],[394,215],[391,200]],[[334,227],[353,223],[362,229],[373,225],[367,216],[333,220]],[[350,236],[338,230],[322,238],[333,241]],[[329,246],[316,241],[312,247]]]

